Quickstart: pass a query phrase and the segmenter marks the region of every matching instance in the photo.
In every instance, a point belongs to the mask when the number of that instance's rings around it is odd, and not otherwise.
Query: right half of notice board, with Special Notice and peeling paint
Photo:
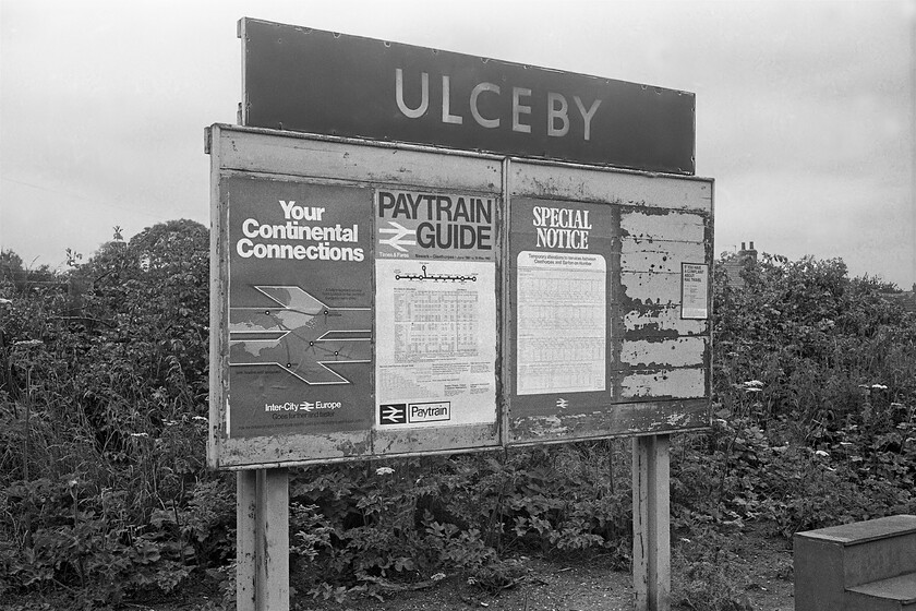
[[[703,426],[711,182],[520,160],[508,176],[509,443]]]

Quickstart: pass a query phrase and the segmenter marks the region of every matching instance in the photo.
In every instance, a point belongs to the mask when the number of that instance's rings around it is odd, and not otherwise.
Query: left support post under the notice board
[[[289,611],[289,471],[240,471],[236,490],[236,607]]]

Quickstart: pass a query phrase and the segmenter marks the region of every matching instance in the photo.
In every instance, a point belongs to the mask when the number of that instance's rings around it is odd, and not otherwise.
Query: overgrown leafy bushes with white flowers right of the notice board
[[[744,609],[723,532],[785,536],[916,511],[916,319],[841,260],[764,255],[714,284],[714,419],[680,438],[673,526],[689,609]]]

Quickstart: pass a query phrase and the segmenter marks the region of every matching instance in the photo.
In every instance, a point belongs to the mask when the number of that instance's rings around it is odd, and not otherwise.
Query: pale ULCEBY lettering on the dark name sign
[[[420,94],[415,94],[415,83],[418,79],[412,79],[412,87],[409,96],[405,95],[405,75],[400,68],[395,69],[395,100],[398,105],[398,110],[408,119],[419,119],[430,111],[430,74],[429,72],[421,72],[419,74]],[[565,137],[569,135],[572,124],[575,122],[576,129],[574,136],[579,136],[584,141],[591,140],[591,124],[601,106],[600,99],[593,99],[586,107],[586,103],[577,95],[572,96],[572,103],[576,107],[577,113],[571,113],[570,105],[567,96],[558,92],[545,92],[543,94],[535,93],[528,87],[513,86],[504,87],[495,83],[478,83],[470,92],[453,92],[451,77],[448,74],[441,75],[442,88],[442,122],[455,125],[465,123],[465,117],[453,112],[453,97],[467,95],[470,105],[471,118],[474,122],[485,129],[495,130],[505,124],[511,124],[511,131],[518,133],[531,133],[531,109],[532,104],[542,101],[546,108],[546,124],[543,127],[543,133],[552,137]],[[508,111],[505,117],[485,117],[480,109],[480,100],[484,96],[506,96],[507,100],[499,106],[504,109],[503,112]],[[411,107],[407,99],[411,99],[413,107]],[[419,101],[418,101],[419,98]],[[541,131],[540,129],[538,130]]]

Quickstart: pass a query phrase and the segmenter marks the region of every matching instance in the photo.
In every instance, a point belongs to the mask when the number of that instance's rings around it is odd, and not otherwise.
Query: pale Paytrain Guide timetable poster
[[[496,202],[376,191],[376,427],[496,421]]]

